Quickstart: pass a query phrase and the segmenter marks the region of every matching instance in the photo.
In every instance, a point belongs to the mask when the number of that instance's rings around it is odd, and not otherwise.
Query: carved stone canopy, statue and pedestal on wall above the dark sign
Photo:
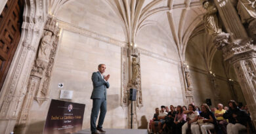
[[[53,69],[54,58],[58,44],[58,25],[56,19],[49,17],[45,24],[44,37],[41,39],[37,59],[32,67],[31,76],[37,76],[39,88],[35,89],[34,99],[41,105],[48,99],[49,82]],[[29,85],[28,85],[29,87]]]

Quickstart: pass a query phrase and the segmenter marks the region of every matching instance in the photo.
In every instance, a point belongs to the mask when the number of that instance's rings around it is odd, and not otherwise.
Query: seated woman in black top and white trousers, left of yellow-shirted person
[[[202,112],[200,113],[200,120],[198,120],[199,126],[195,126],[191,128],[191,131],[194,133],[199,134],[200,130],[202,134],[207,134],[207,130],[214,129],[215,125],[217,124],[215,116],[213,112],[209,109],[209,106],[205,103],[201,105]]]

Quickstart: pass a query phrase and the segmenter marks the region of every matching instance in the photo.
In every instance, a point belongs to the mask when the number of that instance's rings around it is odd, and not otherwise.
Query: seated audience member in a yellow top
[[[215,117],[217,120],[217,126],[221,129],[222,133],[226,134],[226,125],[228,122],[223,118],[223,114],[226,112],[226,110],[223,109],[223,105],[221,103],[218,104],[218,110],[215,110]]]

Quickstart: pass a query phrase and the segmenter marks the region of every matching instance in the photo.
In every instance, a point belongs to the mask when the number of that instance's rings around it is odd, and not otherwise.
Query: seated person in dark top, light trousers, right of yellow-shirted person
[[[248,114],[244,110],[240,110],[236,101],[230,100],[228,102],[229,110],[227,110],[223,117],[228,119],[228,126],[226,131],[228,134],[236,134],[242,129],[246,129],[247,122],[250,120]]]

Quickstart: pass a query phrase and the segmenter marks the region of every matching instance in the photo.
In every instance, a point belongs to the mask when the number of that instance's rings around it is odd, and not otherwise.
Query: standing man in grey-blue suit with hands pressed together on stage
[[[101,133],[106,131],[102,130],[102,124],[106,115],[106,88],[110,88],[108,79],[110,75],[104,76],[106,65],[98,65],[98,72],[93,73],[91,80],[93,80],[93,109],[91,110],[91,133],[98,134],[97,130]],[[98,126],[96,127],[96,120],[98,118],[98,111],[100,110],[100,118],[98,119]]]

